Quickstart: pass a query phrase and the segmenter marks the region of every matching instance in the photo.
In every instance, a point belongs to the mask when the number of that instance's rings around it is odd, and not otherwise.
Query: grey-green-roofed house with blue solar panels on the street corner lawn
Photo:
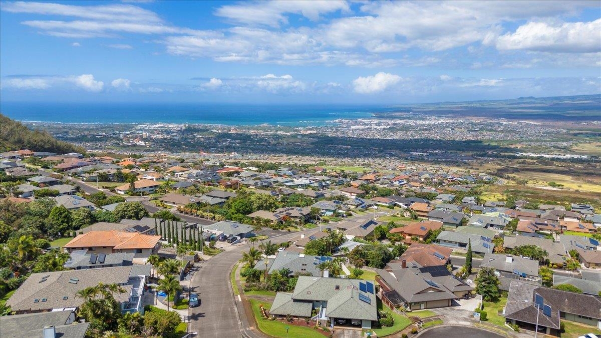
[[[311,318],[313,309],[323,326],[328,326],[328,321],[346,319],[359,320],[361,328],[370,329],[378,319],[374,282],[299,276],[293,292],[276,294],[269,314]]]

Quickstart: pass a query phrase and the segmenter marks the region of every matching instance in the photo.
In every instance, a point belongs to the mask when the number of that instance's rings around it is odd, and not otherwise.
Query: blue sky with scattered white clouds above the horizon
[[[412,103],[601,92],[601,6],[0,2],[1,99]]]

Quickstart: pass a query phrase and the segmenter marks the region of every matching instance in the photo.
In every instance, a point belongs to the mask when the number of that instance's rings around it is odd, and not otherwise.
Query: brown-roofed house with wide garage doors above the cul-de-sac
[[[406,310],[450,307],[453,300],[469,295],[474,287],[455,277],[445,266],[376,269],[383,303]]]

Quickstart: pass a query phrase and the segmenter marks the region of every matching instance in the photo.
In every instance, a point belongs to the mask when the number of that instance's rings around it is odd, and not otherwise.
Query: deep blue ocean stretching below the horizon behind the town
[[[0,102],[0,112],[14,120],[61,123],[327,126],[340,118],[370,118],[373,112],[385,111],[394,111],[394,108],[367,105]]]

